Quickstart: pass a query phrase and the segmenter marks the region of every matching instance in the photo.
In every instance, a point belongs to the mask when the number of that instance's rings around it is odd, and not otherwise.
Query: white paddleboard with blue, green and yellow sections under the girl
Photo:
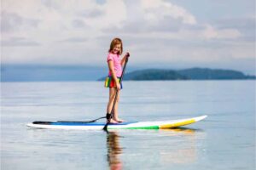
[[[207,116],[198,116],[188,119],[170,120],[170,121],[155,121],[155,122],[121,122],[110,123],[108,129],[159,129],[172,128],[189,125],[194,122],[199,122]],[[102,130],[105,122],[32,122],[28,123],[28,127],[37,128],[53,128],[53,129],[77,129],[77,130]]]

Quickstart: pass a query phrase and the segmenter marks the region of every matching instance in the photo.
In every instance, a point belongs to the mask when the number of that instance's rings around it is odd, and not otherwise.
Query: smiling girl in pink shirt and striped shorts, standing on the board
[[[122,66],[125,64],[125,59],[129,57],[129,53],[126,53],[123,59],[120,59],[120,55],[123,52],[123,42],[120,38],[116,37],[110,43],[110,48],[108,50],[108,77],[105,81],[105,87],[109,88],[109,100],[107,107],[107,122],[117,123],[124,122],[119,119],[118,106],[119,106],[119,90],[122,88],[120,83],[120,77],[122,75]],[[113,106],[113,100],[117,93],[117,100],[113,108],[113,117],[111,117],[111,110]]]

